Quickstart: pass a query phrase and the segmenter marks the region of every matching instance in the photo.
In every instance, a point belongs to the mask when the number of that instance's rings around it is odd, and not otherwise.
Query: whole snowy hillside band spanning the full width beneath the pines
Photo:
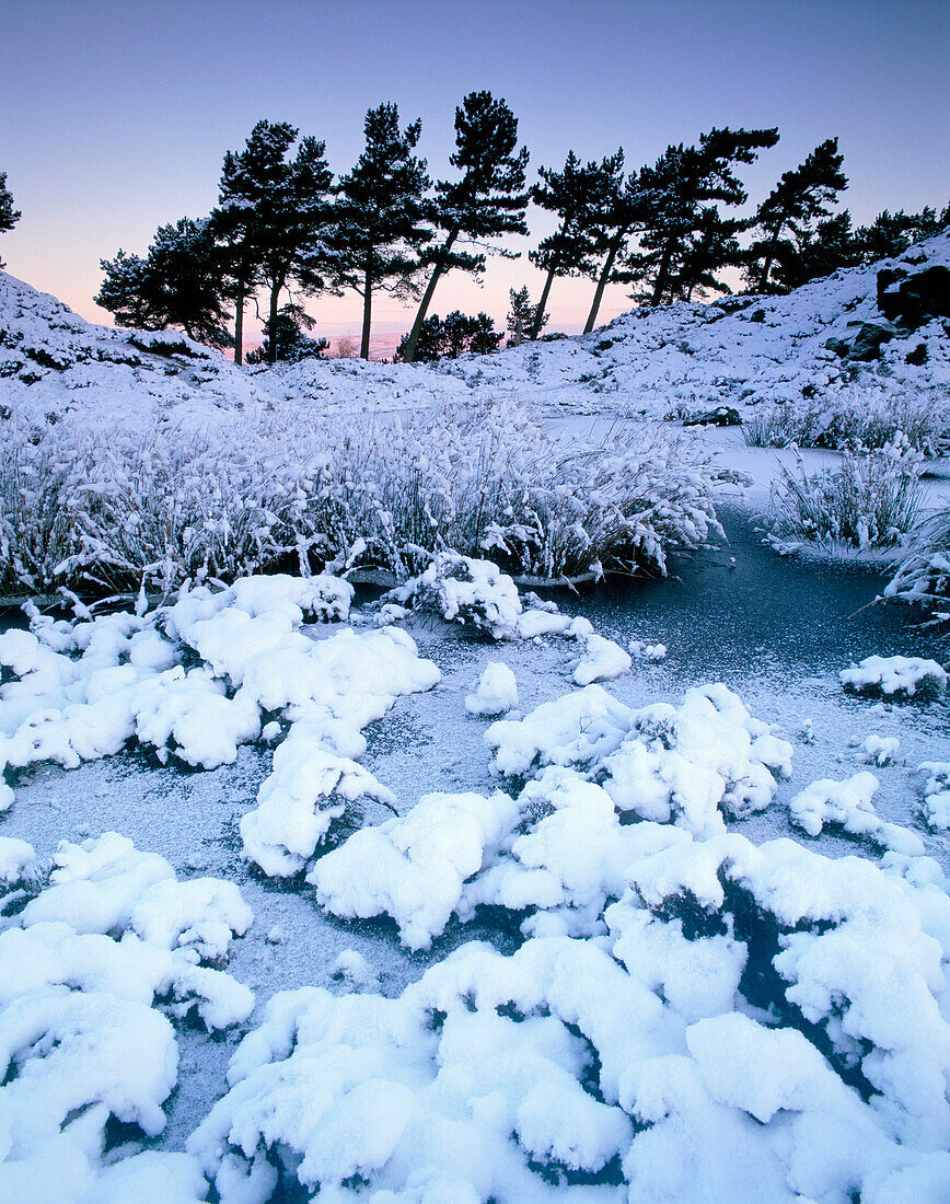
[[[305,360],[247,371],[175,331],[95,326],[0,273],[0,413],[114,411],[123,424],[158,413],[190,426],[235,407],[303,405],[309,415],[419,408],[477,393],[572,412],[669,417],[716,406],[808,402],[868,388],[950,399],[945,318],[898,330],[879,358],[839,354],[865,324],[885,324],[878,271],[950,266],[950,235],[899,260],[836,272],[786,296],[633,309],[584,337],[527,343],[443,364]],[[886,324],[885,324],[886,325]],[[837,341],[839,349],[828,348]],[[910,362],[908,362],[908,358]],[[921,362],[922,361],[922,362]]]

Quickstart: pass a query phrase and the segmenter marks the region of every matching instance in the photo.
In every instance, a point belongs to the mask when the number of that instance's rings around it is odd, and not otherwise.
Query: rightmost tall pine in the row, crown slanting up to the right
[[[759,206],[755,225],[762,231],[748,250],[747,276],[759,293],[769,290],[769,275],[777,259],[790,270],[797,246],[814,230],[815,223],[827,218],[838,193],[848,188],[842,171],[844,155],[838,140],[827,138],[793,171],[781,179]],[[785,231],[791,237],[783,237]]]

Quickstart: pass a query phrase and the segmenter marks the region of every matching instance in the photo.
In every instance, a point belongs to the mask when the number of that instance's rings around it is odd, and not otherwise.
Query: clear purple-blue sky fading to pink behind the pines
[[[217,199],[225,150],[262,117],[326,141],[334,170],[362,149],[367,108],[421,118],[419,153],[453,178],[454,112],[504,98],[539,165],[622,146],[631,167],[714,125],[777,125],[742,170],[750,203],[837,135],[856,223],[950,200],[946,0],[0,0],[0,171],[23,213],[0,236],[7,271],[108,323],[99,260],[144,253],[155,229]],[[541,273],[527,250],[553,219],[529,211],[517,260],[484,283],[453,273],[432,311],[484,309]],[[549,330],[583,326],[589,281],[557,281]],[[631,307],[612,287],[601,321]],[[314,334],[358,334],[361,299],[308,302]],[[374,331],[412,309],[380,295]],[[253,314],[250,329],[254,330]]]

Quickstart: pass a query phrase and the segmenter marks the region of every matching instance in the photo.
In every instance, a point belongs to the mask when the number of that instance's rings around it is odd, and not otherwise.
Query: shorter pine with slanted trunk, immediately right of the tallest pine
[[[601,163],[582,164],[570,150],[561,171],[539,167],[543,183],[531,190],[531,199],[549,213],[556,213],[560,225],[543,238],[529,259],[547,272],[535,321],[529,338],[537,338],[541,317],[555,277],[590,276],[602,250],[597,222],[608,209],[614,189],[616,157]]]

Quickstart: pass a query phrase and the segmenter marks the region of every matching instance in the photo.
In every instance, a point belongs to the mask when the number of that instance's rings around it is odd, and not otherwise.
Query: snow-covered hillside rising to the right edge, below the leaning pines
[[[641,308],[580,338],[523,344],[490,356],[447,361],[471,385],[517,390],[568,409],[666,417],[679,412],[778,401],[869,386],[881,393],[950,395],[950,332],[934,319],[901,332],[880,359],[842,359],[825,344],[849,342],[865,323],[883,324],[878,271],[950,265],[950,235],[899,260],[836,272],[786,296],[725,297]],[[924,359],[917,348],[924,346]]]

